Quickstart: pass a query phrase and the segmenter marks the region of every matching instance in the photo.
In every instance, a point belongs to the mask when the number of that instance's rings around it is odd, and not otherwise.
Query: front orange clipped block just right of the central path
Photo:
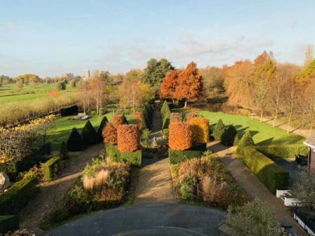
[[[186,150],[193,144],[193,128],[188,123],[169,124],[169,147]]]

